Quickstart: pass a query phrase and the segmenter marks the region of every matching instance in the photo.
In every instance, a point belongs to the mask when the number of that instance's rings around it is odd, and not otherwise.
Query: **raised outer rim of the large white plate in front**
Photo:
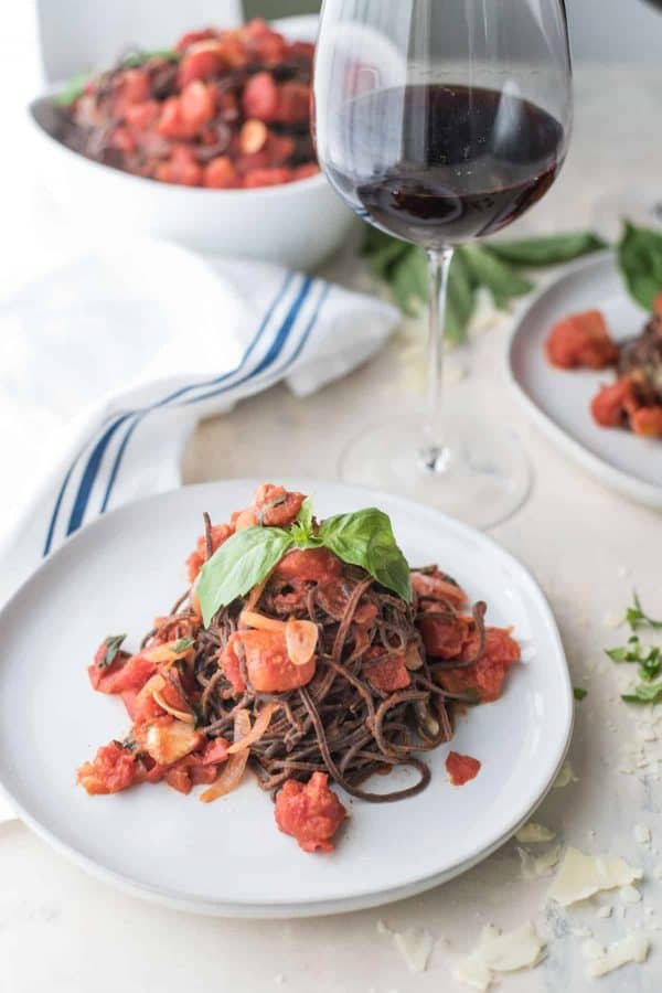
[[[543,802],[547,793],[553,788],[555,779],[563,766],[563,762],[565,761],[570,746],[575,723],[575,707],[567,656],[552,607],[549,606],[549,602],[540,584],[537,583],[535,576],[525,565],[523,565],[523,563],[521,563],[508,549],[503,548],[491,535],[485,534],[484,532],[480,532],[478,531],[478,528],[471,527],[470,525],[465,524],[463,522],[458,521],[448,514],[445,514],[442,511],[438,511],[435,508],[417,503],[416,501],[409,500],[407,498],[380,492],[377,490],[372,490],[364,487],[344,484],[340,480],[314,480],[305,476],[284,476],[282,478],[279,477],[279,482],[286,487],[301,487],[303,488],[303,490],[308,488],[308,490],[312,492],[314,492],[316,488],[321,488],[324,485],[341,488],[345,487],[346,489],[351,489],[354,492],[364,493],[366,500],[373,502],[378,502],[380,499],[383,500],[384,498],[386,498],[389,502],[397,504],[403,510],[403,512],[406,510],[415,510],[418,514],[423,512],[430,519],[436,519],[437,521],[441,520],[447,527],[450,527],[460,535],[473,538],[478,536],[482,542],[487,543],[487,545],[493,552],[496,552],[500,556],[502,556],[502,560],[505,560],[509,566],[514,567],[515,570],[520,573],[520,576],[528,583],[530,592],[537,600],[537,607],[541,609],[544,616],[547,630],[554,641],[555,652],[557,653],[559,661],[563,663],[559,666],[559,676],[565,685],[567,713],[565,715],[566,719],[564,722],[563,732],[559,735],[560,747],[557,747],[556,749],[556,760],[551,775],[547,777],[547,780],[540,788],[540,790],[536,791],[536,796],[534,798],[531,798],[530,802],[527,803],[526,810],[524,812],[520,812],[515,820],[509,822],[508,826],[493,842],[474,852],[463,862],[433,875],[424,874],[423,876],[417,876],[405,884],[384,890],[377,890],[373,888],[354,894],[353,896],[329,898],[322,900],[316,900],[313,898],[302,898],[298,899],[293,904],[288,903],[287,899],[265,900],[263,903],[255,904],[252,901],[242,900],[224,903],[223,900],[210,900],[203,897],[186,897],[178,895],[170,889],[160,888],[158,886],[152,886],[148,883],[134,879],[128,875],[124,875],[120,872],[108,868],[107,866],[97,862],[95,858],[83,854],[74,846],[63,841],[55,832],[53,832],[50,828],[42,823],[39,818],[33,816],[29,811],[25,810],[21,801],[13,796],[8,787],[6,787],[2,778],[0,777],[0,796],[8,800],[9,804],[17,811],[21,821],[23,821],[40,839],[45,841],[54,851],[63,855],[70,863],[77,865],[87,874],[99,878],[105,883],[109,883],[124,893],[140,897],[149,903],[169,907],[170,909],[201,914],[211,917],[288,919],[297,917],[321,917],[332,914],[342,914],[367,909],[424,893],[467,872],[468,869],[478,865],[484,858],[488,858],[498,848],[505,844],[522,826],[522,824],[524,824],[528,820],[531,813]],[[100,515],[95,521],[90,522],[88,525],[67,537],[63,542],[63,544],[52,555],[50,555],[49,558],[44,559],[40,564],[40,566],[28,577],[28,579],[25,579],[20,585],[20,587],[14,591],[14,594],[9,598],[9,600],[2,606],[2,609],[0,610],[0,626],[3,623],[6,615],[11,610],[14,604],[25,595],[28,588],[35,580],[36,576],[41,575],[45,570],[55,568],[56,565],[53,564],[57,563],[58,558],[64,552],[71,554],[70,549],[72,548],[72,546],[75,546],[84,538],[88,540],[88,532],[99,526],[107,519],[120,519],[124,514],[135,512],[136,508],[140,505],[147,505],[154,500],[167,499],[174,493],[180,492],[181,490],[191,492],[202,491],[212,488],[223,488],[226,484],[241,484],[243,487],[245,485],[249,491],[252,491],[257,485],[259,485],[259,480],[254,477],[228,477],[225,479],[211,480],[207,482],[194,483],[185,487],[177,487],[174,489],[164,490],[160,493],[152,493],[151,495],[131,501],[127,504],[124,504],[122,506],[116,508],[113,511],[108,511],[106,514]]]

